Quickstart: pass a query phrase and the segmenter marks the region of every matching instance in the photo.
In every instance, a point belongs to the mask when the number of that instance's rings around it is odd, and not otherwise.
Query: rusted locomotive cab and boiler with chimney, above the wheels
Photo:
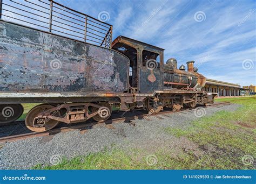
[[[167,60],[166,64],[164,64],[163,48],[119,36],[113,41],[112,48],[118,50],[122,46],[129,46],[137,51],[138,83],[136,87],[139,89],[139,93],[153,93],[156,90],[188,90],[188,88],[184,88],[184,85],[193,90],[194,87],[201,88],[205,84],[205,77],[193,70],[194,61],[190,62],[189,70],[186,72],[185,70],[177,69],[177,61],[174,58]],[[143,51],[151,51],[158,54],[160,67],[154,69],[145,67],[142,61]],[[130,53],[124,52],[124,54]]]

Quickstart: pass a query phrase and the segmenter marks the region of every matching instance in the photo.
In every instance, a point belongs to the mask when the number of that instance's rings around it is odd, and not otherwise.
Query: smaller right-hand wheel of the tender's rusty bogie
[[[111,116],[112,107],[107,102],[100,102],[97,105],[100,105],[100,108],[93,107],[92,112],[99,111],[99,113],[92,117],[96,122],[104,122]]]

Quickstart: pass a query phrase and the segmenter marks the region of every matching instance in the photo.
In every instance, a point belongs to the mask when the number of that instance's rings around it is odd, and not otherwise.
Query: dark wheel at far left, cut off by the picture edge
[[[0,105],[0,124],[16,121],[23,114],[21,104]]]

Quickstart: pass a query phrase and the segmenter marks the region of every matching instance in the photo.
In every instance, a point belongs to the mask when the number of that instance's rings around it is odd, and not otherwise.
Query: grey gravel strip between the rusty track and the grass
[[[113,123],[95,126],[86,131],[74,130],[61,132],[54,136],[28,138],[0,145],[1,169],[31,169],[37,164],[51,164],[51,158],[71,159],[77,155],[86,155],[111,148],[115,145],[124,150],[141,148],[153,152],[158,147],[183,146],[185,149],[196,149],[189,140],[180,141],[164,131],[164,128],[186,128],[198,119],[200,113],[211,116],[214,112],[225,110],[235,111],[238,104],[223,107],[203,108],[196,114],[194,110],[176,112],[167,116],[158,115],[146,119],[133,120],[132,123]],[[1,128],[0,128],[1,129]],[[3,130],[1,130],[3,131]],[[178,151],[178,150],[177,150]],[[198,153],[200,154],[200,153]]]

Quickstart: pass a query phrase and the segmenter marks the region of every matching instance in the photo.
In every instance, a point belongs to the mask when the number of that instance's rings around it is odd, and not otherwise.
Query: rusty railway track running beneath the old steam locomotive
[[[207,107],[223,107],[225,105],[229,105],[230,102],[219,102],[219,103],[214,103],[214,104],[207,104],[206,106],[203,106],[205,108]],[[43,137],[43,136],[50,136],[50,135],[56,135],[57,133],[60,132],[68,132],[68,131],[72,131],[72,130],[80,130],[81,133],[86,132],[87,129],[92,128],[93,126],[96,125],[106,125],[107,128],[112,129],[112,123],[120,123],[120,122],[129,122],[131,123],[131,125],[135,125],[133,124],[131,121],[135,120],[135,119],[146,119],[147,121],[151,121],[150,117],[156,117],[159,119],[164,119],[163,117],[160,117],[159,115],[163,115],[165,117],[171,117],[169,116],[169,114],[173,114],[173,113],[184,113],[183,111],[190,111],[190,110],[194,110],[194,109],[190,109],[190,108],[185,108],[182,109],[180,111],[162,111],[159,112],[158,114],[142,114],[142,115],[134,115],[134,116],[128,116],[128,117],[118,117],[118,118],[112,118],[109,119],[105,122],[90,122],[90,123],[78,123],[78,124],[74,124],[74,125],[66,125],[64,127],[60,127],[60,128],[55,128],[46,132],[29,132],[29,133],[21,133],[19,135],[13,135],[13,136],[6,136],[6,137],[1,137],[0,138],[0,143],[3,142],[11,142],[11,141],[16,141],[16,140],[21,140],[21,139],[26,139],[26,138],[32,138],[32,137]],[[24,121],[16,121],[16,122],[12,122],[12,123],[8,123],[8,124],[3,124],[2,126],[12,126],[15,124],[20,124],[20,123],[24,123]]]

